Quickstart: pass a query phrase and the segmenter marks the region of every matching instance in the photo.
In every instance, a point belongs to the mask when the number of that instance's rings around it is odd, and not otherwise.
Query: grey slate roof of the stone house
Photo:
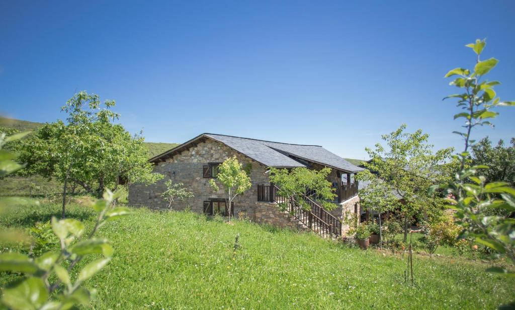
[[[349,173],[364,170],[319,145],[288,144],[223,134],[203,133],[183,145],[178,146],[176,149],[193,143],[201,137],[208,137],[221,142],[245,156],[270,167],[306,167],[307,164],[305,161],[308,161]],[[174,149],[164,152],[152,158],[150,161],[157,160],[173,151]]]

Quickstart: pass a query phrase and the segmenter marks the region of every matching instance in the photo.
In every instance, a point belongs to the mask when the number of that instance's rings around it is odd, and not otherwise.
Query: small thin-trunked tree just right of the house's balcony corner
[[[379,213],[379,247],[383,248],[383,226],[381,214],[400,208],[399,198],[393,194],[393,188],[388,183],[365,170],[356,176],[360,182],[367,182],[367,186],[359,190],[359,201],[361,205],[372,212]]]

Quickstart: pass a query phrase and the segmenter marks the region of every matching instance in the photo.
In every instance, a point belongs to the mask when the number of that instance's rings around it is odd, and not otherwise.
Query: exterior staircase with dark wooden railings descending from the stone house
[[[286,211],[292,219],[322,237],[341,236],[341,221],[324,210],[320,204],[303,195],[302,199],[310,208],[302,208],[295,199],[280,196],[279,187],[276,185],[258,185],[258,200],[269,201],[286,206]]]

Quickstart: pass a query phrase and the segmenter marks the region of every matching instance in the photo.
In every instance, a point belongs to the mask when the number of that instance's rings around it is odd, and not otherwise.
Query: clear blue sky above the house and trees
[[[151,142],[211,132],[364,159],[406,123],[461,147],[443,75],[487,38],[489,79],[515,100],[513,16],[512,1],[4,1],[0,113],[52,122],[87,90]],[[515,109],[500,110],[476,137],[515,136]]]

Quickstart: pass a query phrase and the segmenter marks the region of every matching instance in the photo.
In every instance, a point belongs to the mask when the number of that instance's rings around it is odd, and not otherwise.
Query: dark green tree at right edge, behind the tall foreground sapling
[[[492,147],[487,136],[472,145],[472,165],[490,167],[483,171],[486,182],[502,181],[515,186],[515,138],[511,138],[510,143],[505,147],[504,141],[499,140]]]

